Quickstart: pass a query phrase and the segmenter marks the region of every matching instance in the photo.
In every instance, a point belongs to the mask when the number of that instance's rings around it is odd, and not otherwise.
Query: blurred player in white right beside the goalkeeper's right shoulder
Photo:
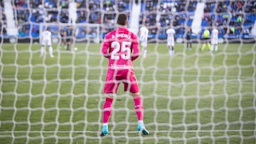
[[[147,46],[148,35],[149,35],[149,29],[146,28],[145,25],[143,25],[142,28],[139,28],[139,41],[142,45],[144,59],[146,58],[146,46]]]

